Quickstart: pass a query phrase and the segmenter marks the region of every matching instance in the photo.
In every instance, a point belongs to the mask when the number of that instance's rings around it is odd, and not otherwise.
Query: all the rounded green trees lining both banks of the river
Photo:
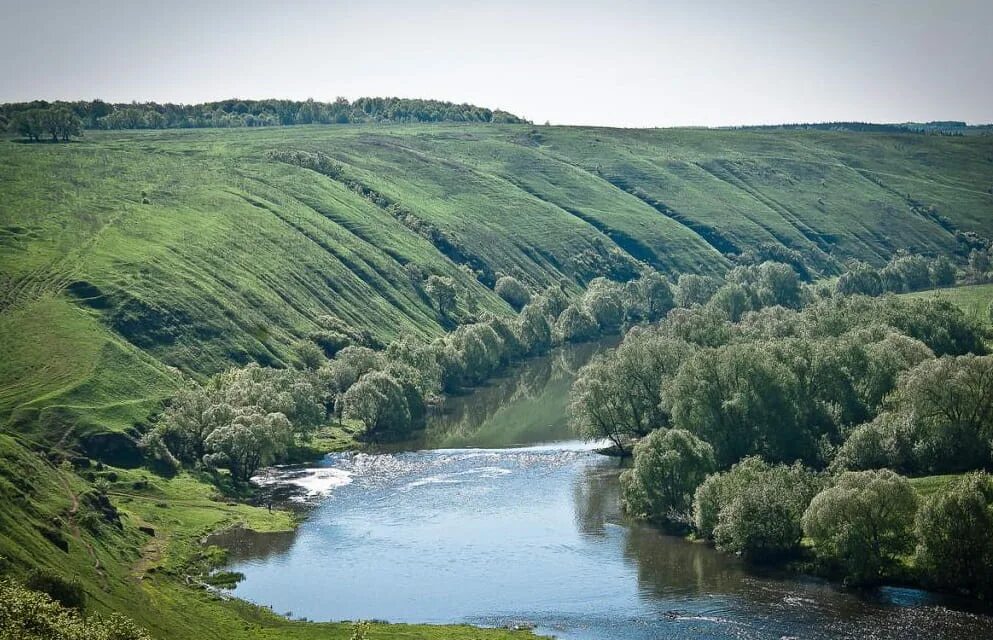
[[[887,269],[903,290],[955,281],[944,259],[901,256]],[[988,327],[940,299],[853,293],[865,279],[856,270],[805,283],[764,262],[675,284],[646,271],[596,279],[576,299],[504,277],[495,288],[516,317],[484,315],[385,350],[328,318],[298,345],[296,367],[250,365],[191,385],[144,443],[169,464],[244,481],[329,420],[361,425],[370,441],[407,438],[443,394],[556,344],[621,331],[616,350],[579,372],[569,420],[583,438],[633,454],[621,478],[628,514],[851,583],[988,596]],[[451,304],[443,282],[432,289],[439,309]],[[923,501],[900,475],[963,473]]]

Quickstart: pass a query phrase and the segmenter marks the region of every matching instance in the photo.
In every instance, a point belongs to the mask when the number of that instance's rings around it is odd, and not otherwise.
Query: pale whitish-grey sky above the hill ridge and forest
[[[0,0],[0,102],[438,98],[610,126],[993,122],[993,0]]]

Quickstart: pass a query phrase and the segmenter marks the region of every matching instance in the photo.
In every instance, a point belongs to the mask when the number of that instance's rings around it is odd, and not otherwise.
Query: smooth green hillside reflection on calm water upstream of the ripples
[[[547,356],[526,360],[517,365],[511,375],[493,380],[470,394],[448,398],[442,412],[431,418],[424,444],[523,444],[514,441],[513,436],[542,429],[556,432],[541,435],[564,437],[567,435],[563,427],[569,387],[579,368],[593,354],[609,346],[608,342],[566,346]],[[518,414],[513,411],[515,406],[537,410]],[[506,414],[503,420],[501,414]],[[529,421],[532,423],[528,424]],[[501,434],[501,431],[513,433]]]

